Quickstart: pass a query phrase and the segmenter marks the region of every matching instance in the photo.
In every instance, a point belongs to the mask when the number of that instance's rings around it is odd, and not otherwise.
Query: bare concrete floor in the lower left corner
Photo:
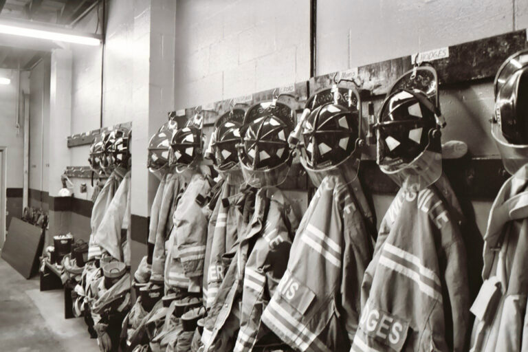
[[[40,292],[0,259],[0,351],[98,352],[82,318],[64,319],[63,291]]]

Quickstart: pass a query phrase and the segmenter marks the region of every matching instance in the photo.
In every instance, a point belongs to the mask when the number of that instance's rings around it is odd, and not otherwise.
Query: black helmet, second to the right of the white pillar
[[[170,166],[190,166],[199,161],[203,151],[201,126],[189,122],[184,128],[175,131],[170,148]]]

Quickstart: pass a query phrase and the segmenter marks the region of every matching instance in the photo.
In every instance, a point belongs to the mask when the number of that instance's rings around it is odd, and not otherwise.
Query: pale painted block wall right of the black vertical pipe
[[[525,28],[526,0],[325,0],[317,74]]]

